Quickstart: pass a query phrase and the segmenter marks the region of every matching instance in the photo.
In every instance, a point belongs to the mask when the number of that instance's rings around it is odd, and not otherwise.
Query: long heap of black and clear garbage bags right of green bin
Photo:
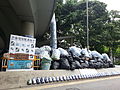
[[[51,49],[49,55],[52,58],[50,69],[83,69],[83,68],[111,68],[114,67],[112,61],[106,53],[100,54],[97,51],[90,51],[75,46],[68,50],[63,48]],[[42,55],[41,55],[42,56]]]

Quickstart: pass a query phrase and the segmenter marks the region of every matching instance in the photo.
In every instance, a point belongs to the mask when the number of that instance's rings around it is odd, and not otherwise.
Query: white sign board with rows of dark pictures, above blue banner
[[[10,36],[9,53],[35,54],[36,39],[18,35]]]

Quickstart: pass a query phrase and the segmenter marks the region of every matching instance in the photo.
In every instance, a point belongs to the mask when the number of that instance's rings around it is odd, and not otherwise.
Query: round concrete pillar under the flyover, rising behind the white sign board
[[[34,37],[34,23],[33,22],[23,22],[22,23],[24,35],[31,35]]]

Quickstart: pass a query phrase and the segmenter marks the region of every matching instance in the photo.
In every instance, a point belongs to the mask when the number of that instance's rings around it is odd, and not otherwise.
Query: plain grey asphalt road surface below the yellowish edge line
[[[120,90],[120,78],[52,87],[43,90]]]

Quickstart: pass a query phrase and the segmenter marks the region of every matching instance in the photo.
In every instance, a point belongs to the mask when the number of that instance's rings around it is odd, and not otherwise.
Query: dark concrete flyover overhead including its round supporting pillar
[[[0,50],[8,48],[10,34],[37,39],[49,28],[55,0],[0,0]]]

